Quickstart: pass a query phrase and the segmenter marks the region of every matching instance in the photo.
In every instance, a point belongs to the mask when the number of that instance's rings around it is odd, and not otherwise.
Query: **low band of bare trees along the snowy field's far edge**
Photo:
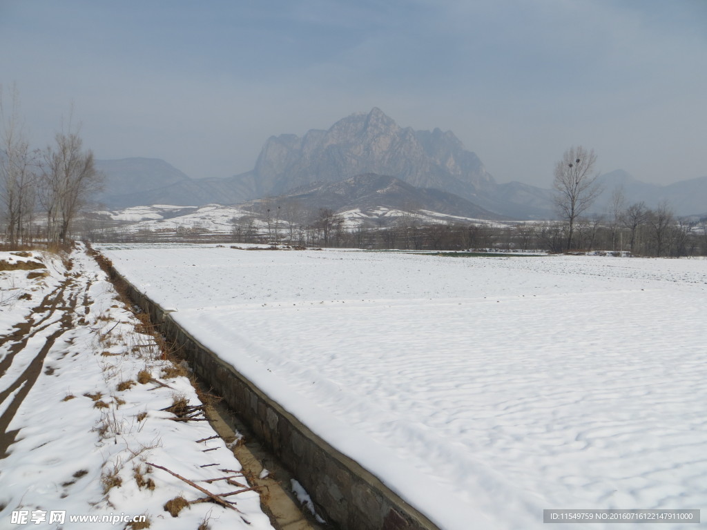
[[[172,230],[118,232],[87,225],[77,234],[94,242],[221,242],[344,247],[359,249],[464,250],[502,249],[566,252],[568,225],[561,221],[527,222],[509,225],[436,223],[422,224],[401,218],[388,227],[361,225],[346,228],[344,218],[322,209],[310,223],[258,223],[255,218],[233,221],[230,234],[209,233],[204,228],[177,227]],[[607,218],[578,219],[573,226],[573,252],[630,252],[636,256],[707,256],[707,218],[676,219],[660,207],[642,204],[626,213]]]

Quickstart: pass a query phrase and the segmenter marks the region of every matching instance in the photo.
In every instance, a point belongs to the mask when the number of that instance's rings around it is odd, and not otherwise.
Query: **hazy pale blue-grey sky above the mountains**
[[[646,182],[707,175],[707,0],[0,0],[0,83],[45,146],[252,169],[271,135],[380,107],[498,182],[572,145]]]

